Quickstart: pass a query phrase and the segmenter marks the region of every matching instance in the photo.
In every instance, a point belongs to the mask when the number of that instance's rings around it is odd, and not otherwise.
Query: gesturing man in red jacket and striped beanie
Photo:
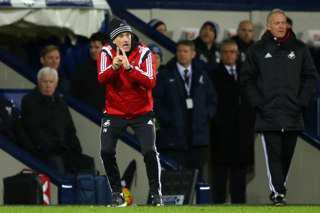
[[[152,205],[164,207],[151,96],[151,89],[156,85],[155,59],[125,20],[112,19],[109,30],[110,41],[102,48],[97,61],[98,80],[106,85],[100,156],[113,194],[108,206],[126,206],[115,155],[117,140],[130,126],[141,144]]]

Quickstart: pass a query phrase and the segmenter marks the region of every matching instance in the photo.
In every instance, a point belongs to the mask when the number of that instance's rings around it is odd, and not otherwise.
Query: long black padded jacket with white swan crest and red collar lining
[[[257,109],[255,131],[303,131],[302,110],[316,85],[305,43],[292,30],[282,40],[266,33],[253,43],[241,70],[241,85]]]

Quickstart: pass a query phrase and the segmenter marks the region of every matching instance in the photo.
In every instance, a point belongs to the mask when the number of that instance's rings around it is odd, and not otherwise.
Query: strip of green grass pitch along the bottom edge
[[[127,206],[127,207],[105,207],[102,205],[0,205],[1,213],[112,213],[112,212],[240,212],[240,213],[260,213],[260,212],[320,212],[320,205],[287,205],[285,207],[274,207],[266,205],[168,205],[165,208],[151,206]]]

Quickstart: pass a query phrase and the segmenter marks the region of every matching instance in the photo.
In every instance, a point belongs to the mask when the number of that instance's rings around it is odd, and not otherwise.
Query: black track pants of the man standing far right
[[[286,194],[285,183],[299,132],[261,132],[270,190]]]

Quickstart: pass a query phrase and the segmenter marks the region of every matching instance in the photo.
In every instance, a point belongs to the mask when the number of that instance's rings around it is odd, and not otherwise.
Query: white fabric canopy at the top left
[[[0,0],[0,32],[30,37],[51,34],[90,37],[98,32],[106,0]]]

